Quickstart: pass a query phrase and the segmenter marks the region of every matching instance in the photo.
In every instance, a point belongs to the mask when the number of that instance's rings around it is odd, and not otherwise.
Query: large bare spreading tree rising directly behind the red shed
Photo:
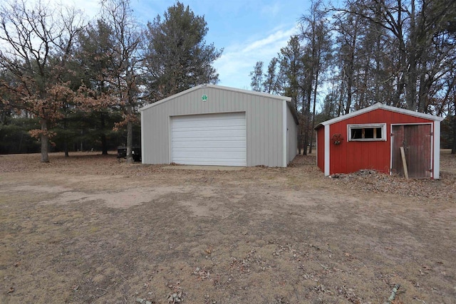
[[[376,37],[382,37],[394,60],[385,65],[395,84],[393,104],[420,112],[427,112],[431,87],[442,76],[447,52],[454,48],[454,43],[448,46],[439,39],[455,10],[456,3],[450,0],[348,1],[346,8],[334,9],[383,28]]]

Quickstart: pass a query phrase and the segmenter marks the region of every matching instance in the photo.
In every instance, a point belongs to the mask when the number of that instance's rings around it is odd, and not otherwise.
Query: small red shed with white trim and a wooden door
[[[376,103],[317,125],[317,165],[326,176],[375,169],[439,178],[442,117]]]

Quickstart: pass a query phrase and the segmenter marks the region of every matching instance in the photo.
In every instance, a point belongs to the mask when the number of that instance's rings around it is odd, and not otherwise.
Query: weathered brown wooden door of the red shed
[[[431,125],[393,125],[392,172],[404,176],[400,147],[404,147],[408,176],[413,178],[430,177],[431,163]]]

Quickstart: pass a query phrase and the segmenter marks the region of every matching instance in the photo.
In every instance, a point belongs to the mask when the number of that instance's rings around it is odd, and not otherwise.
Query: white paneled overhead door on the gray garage
[[[245,112],[171,118],[171,161],[176,164],[247,165]]]

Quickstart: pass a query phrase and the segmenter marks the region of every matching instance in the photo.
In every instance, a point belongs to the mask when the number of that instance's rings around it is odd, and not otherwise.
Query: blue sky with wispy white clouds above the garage
[[[182,0],[185,6],[204,16],[209,32],[207,43],[224,48],[222,57],[214,63],[219,73],[219,85],[250,89],[249,73],[257,61],[265,68],[271,58],[286,46],[297,33],[296,23],[306,14],[310,1],[279,0]],[[75,1],[86,14],[97,14],[97,0]],[[144,23],[160,16],[175,1],[131,0],[135,16]]]

